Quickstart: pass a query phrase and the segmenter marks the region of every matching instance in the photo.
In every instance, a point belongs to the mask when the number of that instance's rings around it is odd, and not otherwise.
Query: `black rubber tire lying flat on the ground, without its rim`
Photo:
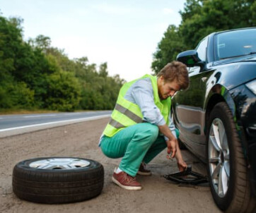
[[[29,166],[32,162],[52,158],[65,157],[41,157],[16,164],[13,168],[13,193],[23,200],[47,204],[79,202],[101,193],[104,169],[99,162],[85,159],[90,165],[75,169],[35,169]]]

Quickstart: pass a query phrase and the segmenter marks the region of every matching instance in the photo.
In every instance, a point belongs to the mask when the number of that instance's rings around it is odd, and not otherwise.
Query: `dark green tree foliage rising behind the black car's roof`
[[[256,25],[254,0],[187,0],[180,11],[179,27],[170,25],[153,54],[152,69],[158,73],[180,51],[194,49],[211,32]]]

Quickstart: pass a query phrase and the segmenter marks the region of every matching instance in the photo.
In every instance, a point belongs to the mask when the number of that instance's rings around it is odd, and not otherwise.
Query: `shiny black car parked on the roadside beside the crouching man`
[[[180,141],[206,163],[225,212],[256,212],[256,28],[214,32],[177,60],[190,87],[172,99]]]

